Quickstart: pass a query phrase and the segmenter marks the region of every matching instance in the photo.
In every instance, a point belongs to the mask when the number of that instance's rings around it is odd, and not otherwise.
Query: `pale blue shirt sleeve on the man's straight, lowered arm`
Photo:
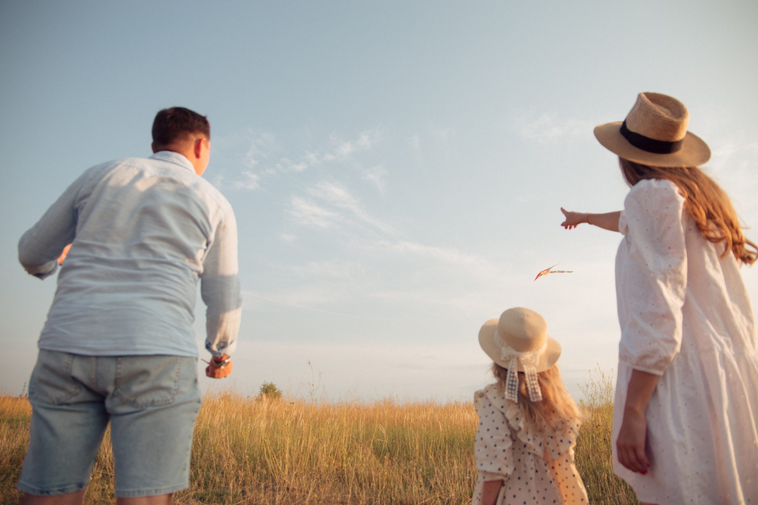
[[[237,264],[236,220],[230,206],[225,208],[208,253],[203,261],[200,295],[205,313],[205,348],[216,357],[231,356],[240,330],[242,297]]]

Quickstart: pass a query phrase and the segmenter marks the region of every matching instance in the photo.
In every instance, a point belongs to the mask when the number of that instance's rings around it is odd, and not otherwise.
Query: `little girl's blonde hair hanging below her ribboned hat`
[[[492,373],[497,379],[497,384],[504,391],[508,369],[492,363]],[[528,419],[537,431],[561,429],[566,422],[581,419],[579,407],[563,387],[558,365],[537,373],[537,382],[540,383],[542,401],[532,403],[526,388],[525,374],[518,373],[518,405],[522,407],[525,419]]]

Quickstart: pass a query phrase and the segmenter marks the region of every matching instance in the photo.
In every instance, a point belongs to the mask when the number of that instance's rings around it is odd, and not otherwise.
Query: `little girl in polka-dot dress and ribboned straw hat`
[[[587,503],[574,466],[579,411],[561,382],[560,344],[521,307],[484,323],[479,344],[497,382],[474,395],[479,479],[472,505]]]

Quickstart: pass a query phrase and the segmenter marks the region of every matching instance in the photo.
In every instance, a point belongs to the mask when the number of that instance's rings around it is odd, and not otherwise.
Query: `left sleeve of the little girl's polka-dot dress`
[[[479,426],[474,441],[474,454],[479,475],[484,480],[507,481],[513,473],[513,440],[505,414],[498,410],[484,391],[474,395]]]

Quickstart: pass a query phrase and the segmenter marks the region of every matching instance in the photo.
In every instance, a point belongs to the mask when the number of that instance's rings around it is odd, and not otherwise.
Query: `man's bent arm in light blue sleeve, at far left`
[[[68,186],[18,242],[18,260],[28,273],[39,279],[58,269],[58,258],[74,240],[77,229],[76,199],[89,170]]]

